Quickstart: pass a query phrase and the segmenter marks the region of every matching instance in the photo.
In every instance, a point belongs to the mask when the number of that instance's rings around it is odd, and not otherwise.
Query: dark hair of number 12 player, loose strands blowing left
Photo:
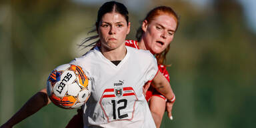
[[[127,7],[125,7],[125,5],[123,5],[123,3],[119,3],[116,1],[109,1],[104,3],[98,11],[97,14],[97,21],[95,23],[95,29],[92,29],[91,31],[89,31],[89,33],[93,33],[95,32],[98,28],[99,28],[99,22],[101,21],[103,15],[105,15],[106,13],[111,13],[111,12],[115,12],[115,13],[119,13],[121,15],[123,15],[123,17],[125,17],[125,20],[127,21],[127,25],[129,24],[129,12],[127,10]],[[91,46],[95,46],[97,42],[99,42],[99,39],[97,39],[99,37],[99,35],[93,35],[91,37],[87,37],[85,38],[82,43],[79,45],[79,47],[91,47]],[[97,39],[97,41],[94,41],[93,43],[87,44],[85,45],[85,43],[87,43],[88,41],[91,41],[92,39]]]

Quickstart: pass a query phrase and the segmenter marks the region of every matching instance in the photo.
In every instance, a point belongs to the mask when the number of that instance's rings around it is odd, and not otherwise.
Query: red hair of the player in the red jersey
[[[176,23],[177,23],[177,27],[176,27],[175,31],[177,31],[178,26],[179,26],[179,17],[177,15],[177,13],[175,13],[175,11],[173,11],[173,9],[171,9],[171,7],[167,7],[167,6],[155,7],[154,9],[149,11],[149,13],[147,13],[147,16],[145,17],[145,19],[143,19],[143,21],[147,20],[147,23],[151,23],[151,21],[155,17],[157,17],[159,15],[163,15],[163,14],[167,14],[167,15],[171,15],[171,16],[175,17]],[[141,27],[139,27],[139,29],[137,29],[137,33],[136,33],[137,41],[141,40],[141,37],[143,34],[144,34],[143,30],[141,29]],[[170,45],[168,45],[164,51],[162,51],[161,53],[157,53],[155,55],[155,57],[157,58],[157,63],[162,65],[165,62],[166,55],[169,51],[169,48],[170,48]]]

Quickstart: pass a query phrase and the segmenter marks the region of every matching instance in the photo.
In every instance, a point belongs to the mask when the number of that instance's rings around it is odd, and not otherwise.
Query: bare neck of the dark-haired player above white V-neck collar
[[[121,61],[123,58],[125,58],[127,49],[125,45],[111,50],[105,49],[101,46],[101,53],[104,55],[104,57],[109,59],[109,61]]]

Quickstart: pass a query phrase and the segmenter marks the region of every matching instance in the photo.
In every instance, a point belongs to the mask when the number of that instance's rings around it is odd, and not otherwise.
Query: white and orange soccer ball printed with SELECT
[[[91,95],[91,84],[81,67],[64,64],[49,75],[47,94],[55,105],[64,109],[76,109]]]

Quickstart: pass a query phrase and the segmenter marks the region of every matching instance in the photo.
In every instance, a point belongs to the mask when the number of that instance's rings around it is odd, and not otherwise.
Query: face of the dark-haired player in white
[[[125,45],[125,38],[130,31],[130,23],[127,25],[125,17],[119,13],[106,13],[103,15],[97,30],[101,40],[101,47],[107,50],[119,48]]]

